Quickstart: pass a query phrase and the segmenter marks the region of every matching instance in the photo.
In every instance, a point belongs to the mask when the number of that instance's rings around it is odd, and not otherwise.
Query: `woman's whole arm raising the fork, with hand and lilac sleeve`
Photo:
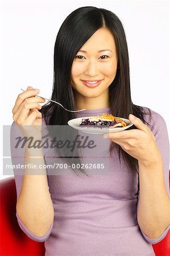
[[[15,122],[11,126],[10,137],[17,192],[16,217],[20,228],[28,237],[42,242],[51,233],[54,216],[46,170],[39,167],[39,164],[44,164],[44,154],[41,149],[28,148],[28,143],[26,147],[18,144],[18,139],[22,141],[31,138],[34,139],[33,144],[37,139],[42,140],[43,120],[39,112],[42,106],[39,103],[45,100],[35,97],[38,93],[38,89],[28,86],[26,92],[20,93],[16,98],[13,108]],[[15,168],[16,164],[29,166],[18,169]],[[31,164],[36,164],[37,168],[30,168]]]

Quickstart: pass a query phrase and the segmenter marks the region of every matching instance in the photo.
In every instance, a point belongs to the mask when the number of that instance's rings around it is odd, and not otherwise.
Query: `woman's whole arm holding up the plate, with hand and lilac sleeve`
[[[156,112],[152,112],[152,130],[139,118],[132,118],[131,115],[129,118],[137,129],[110,133],[109,138],[138,160],[137,218],[144,238],[156,243],[166,236],[170,228],[167,126],[163,117]]]

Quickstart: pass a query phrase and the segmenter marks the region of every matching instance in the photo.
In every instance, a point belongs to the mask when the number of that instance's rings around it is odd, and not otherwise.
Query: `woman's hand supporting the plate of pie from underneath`
[[[138,159],[139,163],[150,164],[160,159],[160,151],[152,131],[134,115],[128,115],[128,119],[137,129],[109,133],[109,139],[119,144],[129,155]],[[108,138],[108,135],[106,137]]]

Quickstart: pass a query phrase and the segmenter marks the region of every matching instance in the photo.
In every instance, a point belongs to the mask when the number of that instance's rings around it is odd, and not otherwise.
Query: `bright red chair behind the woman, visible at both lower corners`
[[[170,175],[169,175],[170,180]],[[14,177],[0,181],[1,195],[1,249],[3,256],[38,256],[45,254],[44,242],[31,240],[24,234],[16,219],[16,187]],[[156,256],[170,255],[170,230],[167,236],[152,245]]]

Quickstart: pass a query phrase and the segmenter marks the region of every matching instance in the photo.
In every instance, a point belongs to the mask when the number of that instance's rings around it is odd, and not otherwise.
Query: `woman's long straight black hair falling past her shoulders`
[[[131,100],[130,70],[126,35],[118,16],[109,10],[94,6],[80,7],[67,16],[57,34],[54,48],[54,74],[51,99],[60,102],[67,109],[76,109],[71,86],[71,68],[79,49],[99,28],[107,28],[113,34],[117,48],[118,65],[114,81],[109,86],[110,113],[128,119],[130,113],[139,117],[144,123],[144,114],[150,114],[149,108],[134,105]],[[45,104],[41,110],[47,125],[68,125],[70,119],[76,118],[57,104]],[[147,123],[150,125],[149,123]],[[130,129],[136,129],[135,126]],[[111,142],[109,151],[112,155],[117,148],[119,160],[121,154],[127,167],[134,175],[138,174],[138,160],[127,154],[121,146]]]

